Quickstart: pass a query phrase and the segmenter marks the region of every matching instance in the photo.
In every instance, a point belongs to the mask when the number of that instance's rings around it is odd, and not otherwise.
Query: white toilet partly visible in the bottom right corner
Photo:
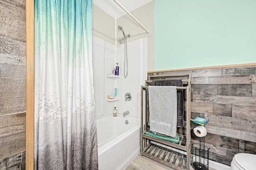
[[[232,162],[232,170],[256,170],[256,155],[247,153],[235,154]]]

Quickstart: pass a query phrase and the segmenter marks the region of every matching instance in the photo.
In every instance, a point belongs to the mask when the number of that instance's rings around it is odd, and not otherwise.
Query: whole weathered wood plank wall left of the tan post
[[[0,169],[25,169],[25,0],[0,0]]]

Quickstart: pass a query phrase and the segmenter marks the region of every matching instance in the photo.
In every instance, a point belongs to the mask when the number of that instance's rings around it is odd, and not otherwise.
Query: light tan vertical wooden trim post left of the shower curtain
[[[26,0],[26,170],[34,170],[34,0]]]

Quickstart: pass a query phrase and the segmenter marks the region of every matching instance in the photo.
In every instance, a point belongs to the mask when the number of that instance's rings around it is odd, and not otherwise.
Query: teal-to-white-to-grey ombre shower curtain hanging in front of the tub
[[[35,169],[98,169],[92,0],[35,0]]]

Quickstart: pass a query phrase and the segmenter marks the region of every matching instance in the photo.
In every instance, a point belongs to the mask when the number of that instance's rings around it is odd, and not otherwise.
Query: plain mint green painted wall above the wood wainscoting
[[[154,3],[154,70],[256,61],[256,0]]]

